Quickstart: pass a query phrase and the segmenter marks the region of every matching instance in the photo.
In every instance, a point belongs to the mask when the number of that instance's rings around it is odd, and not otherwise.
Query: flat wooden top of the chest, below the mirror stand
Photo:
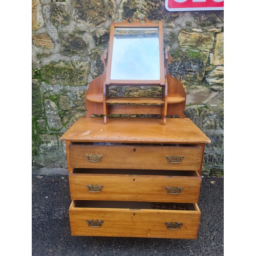
[[[166,125],[156,118],[81,117],[61,136],[61,140],[138,143],[210,143],[189,118],[167,118]]]

